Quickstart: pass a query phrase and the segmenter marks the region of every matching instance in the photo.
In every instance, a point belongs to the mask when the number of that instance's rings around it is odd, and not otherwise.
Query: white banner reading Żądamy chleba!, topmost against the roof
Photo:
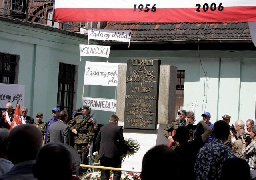
[[[130,30],[108,30],[108,29],[88,29],[88,40],[114,40],[122,42],[131,41],[132,31]]]

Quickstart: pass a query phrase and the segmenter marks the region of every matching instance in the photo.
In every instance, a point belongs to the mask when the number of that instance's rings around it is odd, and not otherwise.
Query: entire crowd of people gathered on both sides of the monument
[[[24,124],[8,129],[12,122],[12,104],[0,119],[0,180],[64,179],[79,180],[73,174],[81,172],[80,164],[90,164],[95,140],[101,166],[121,168],[120,155],[129,154],[118,116],[112,114],[109,123],[98,130],[96,118],[89,106],[82,106],[68,120],[66,111],[52,108],[52,118],[42,122],[43,113],[36,113],[36,122],[21,108]],[[154,146],[144,154],[141,180],[155,180],[152,172],[161,172],[157,179],[172,180],[256,180],[256,125],[254,120],[245,123],[238,119],[230,125],[231,116],[210,122],[211,114],[204,112],[195,123],[194,112],[178,111],[178,120],[168,125],[164,136],[171,142]],[[9,124],[10,125],[10,124]],[[74,135],[74,147],[70,136]],[[164,163],[165,162],[165,163]],[[166,166],[166,163],[168,166]],[[156,166],[157,164],[157,166]],[[54,169],[54,174],[44,168]],[[232,174],[233,167],[242,167],[242,175]],[[86,169],[88,170],[88,169]],[[83,172],[83,171],[82,171]],[[110,171],[102,169],[101,180],[108,180]],[[163,173],[164,172],[164,173]],[[120,180],[121,171],[113,171],[113,180]]]

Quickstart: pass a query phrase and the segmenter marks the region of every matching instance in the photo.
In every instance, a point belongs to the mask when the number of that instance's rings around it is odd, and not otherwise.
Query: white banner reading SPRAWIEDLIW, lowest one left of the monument
[[[112,111],[116,112],[115,99],[100,99],[83,97],[83,105],[90,106],[92,110]]]

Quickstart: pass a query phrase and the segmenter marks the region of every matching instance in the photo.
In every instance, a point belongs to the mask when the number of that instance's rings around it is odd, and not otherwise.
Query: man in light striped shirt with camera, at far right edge
[[[242,136],[242,156],[245,156],[250,166],[251,179],[256,180],[256,125],[252,125],[250,129],[250,138],[252,142],[246,147],[246,141]]]

